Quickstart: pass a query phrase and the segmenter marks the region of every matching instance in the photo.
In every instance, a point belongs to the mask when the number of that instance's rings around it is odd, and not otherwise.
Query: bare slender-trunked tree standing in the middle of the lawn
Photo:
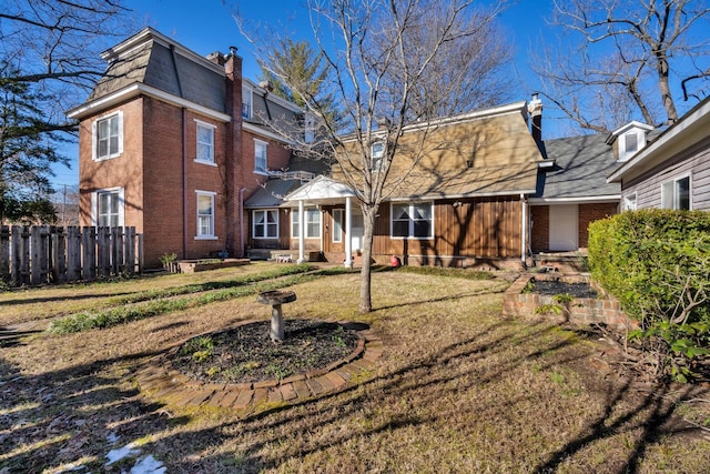
[[[507,60],[494,18],[473,0],[310,0],[311,24],[328,75],[323,81],[341,108],[338,121],[278,61],[257,44],[263,63],[302,97],[316,117],[312,143],[298,151],[334,159],[333,174],[357,191],[364,220],[361,312],[372,311],[371,256],[379,205],[426,155],[435,119],[504,95],[493,81]],[[496,53],[497,51],[497,53]],[[486,57],[495,57],[499,62]],[[496,56],[498,54],[498,56]],[[494,58],[494,59],[495,59]],[[481,74],[477,77],[476,74]],[[486,98],[487,99],[487,98]],[[415,134],[407,128],[417,127]],[[292,137],[294,142],[297,135]],[[373,144],[382,148],[373,155]],[[395,162],[393,167],[393,162]],[[396,172],[393,172],[396,170]]]

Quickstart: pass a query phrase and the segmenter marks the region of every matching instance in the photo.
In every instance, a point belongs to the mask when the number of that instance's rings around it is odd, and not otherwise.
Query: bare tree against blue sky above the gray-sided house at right
[[[640,118],[659,127],[682,101],[708,94],[710,7],[694,0],[555,1],[569,49],[532,54],[544,94],[582,129],[609,132]],[[693,101],[693,103],[696,102]]]

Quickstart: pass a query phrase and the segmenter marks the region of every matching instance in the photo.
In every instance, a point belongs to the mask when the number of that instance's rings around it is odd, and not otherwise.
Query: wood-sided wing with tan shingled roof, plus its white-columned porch
[[[388,263],[398,255],[405,264],[445,266],[523,265],[527,198],[536,192],[542,161],[529,131],[526,102],[429,125],[430,150],[404,181],[397,177],[407,164],[395,155],[390,188],[385,190],[388,200],[375,224],[373,259]],[[407,127],[400,143],[416,142],[422,127]],[[315,252],[352,265],[363,242],[356,192],[335,171],[292,191],[280,206],[281,218],[288,215],[291,225],[278,231],[278,245],[298,260]]]

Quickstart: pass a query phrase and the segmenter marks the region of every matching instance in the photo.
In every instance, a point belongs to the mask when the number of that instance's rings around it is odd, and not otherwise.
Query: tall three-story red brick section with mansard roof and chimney
[[[243,209],[291,152],[261,118],[302,111],[242,79],[242,59],[203,58],[146,28],[102,54],[109,62],[80,120],[82,225],[133,225],[146,266],[227,250],[244,255]]]

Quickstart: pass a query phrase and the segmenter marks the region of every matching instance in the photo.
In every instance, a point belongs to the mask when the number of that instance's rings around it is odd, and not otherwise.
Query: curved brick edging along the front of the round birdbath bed
[[[338,392],[372,376],[374,363],[383,352],[383,342],[369,330],[358,333],[359,343],[347,357],[325,369],[282,381],[241,384],[194,381],[172,366],[168,353],[151,359],[135,377],[141,392],[169,405],[247,410],[265,404],[297,404]]]

